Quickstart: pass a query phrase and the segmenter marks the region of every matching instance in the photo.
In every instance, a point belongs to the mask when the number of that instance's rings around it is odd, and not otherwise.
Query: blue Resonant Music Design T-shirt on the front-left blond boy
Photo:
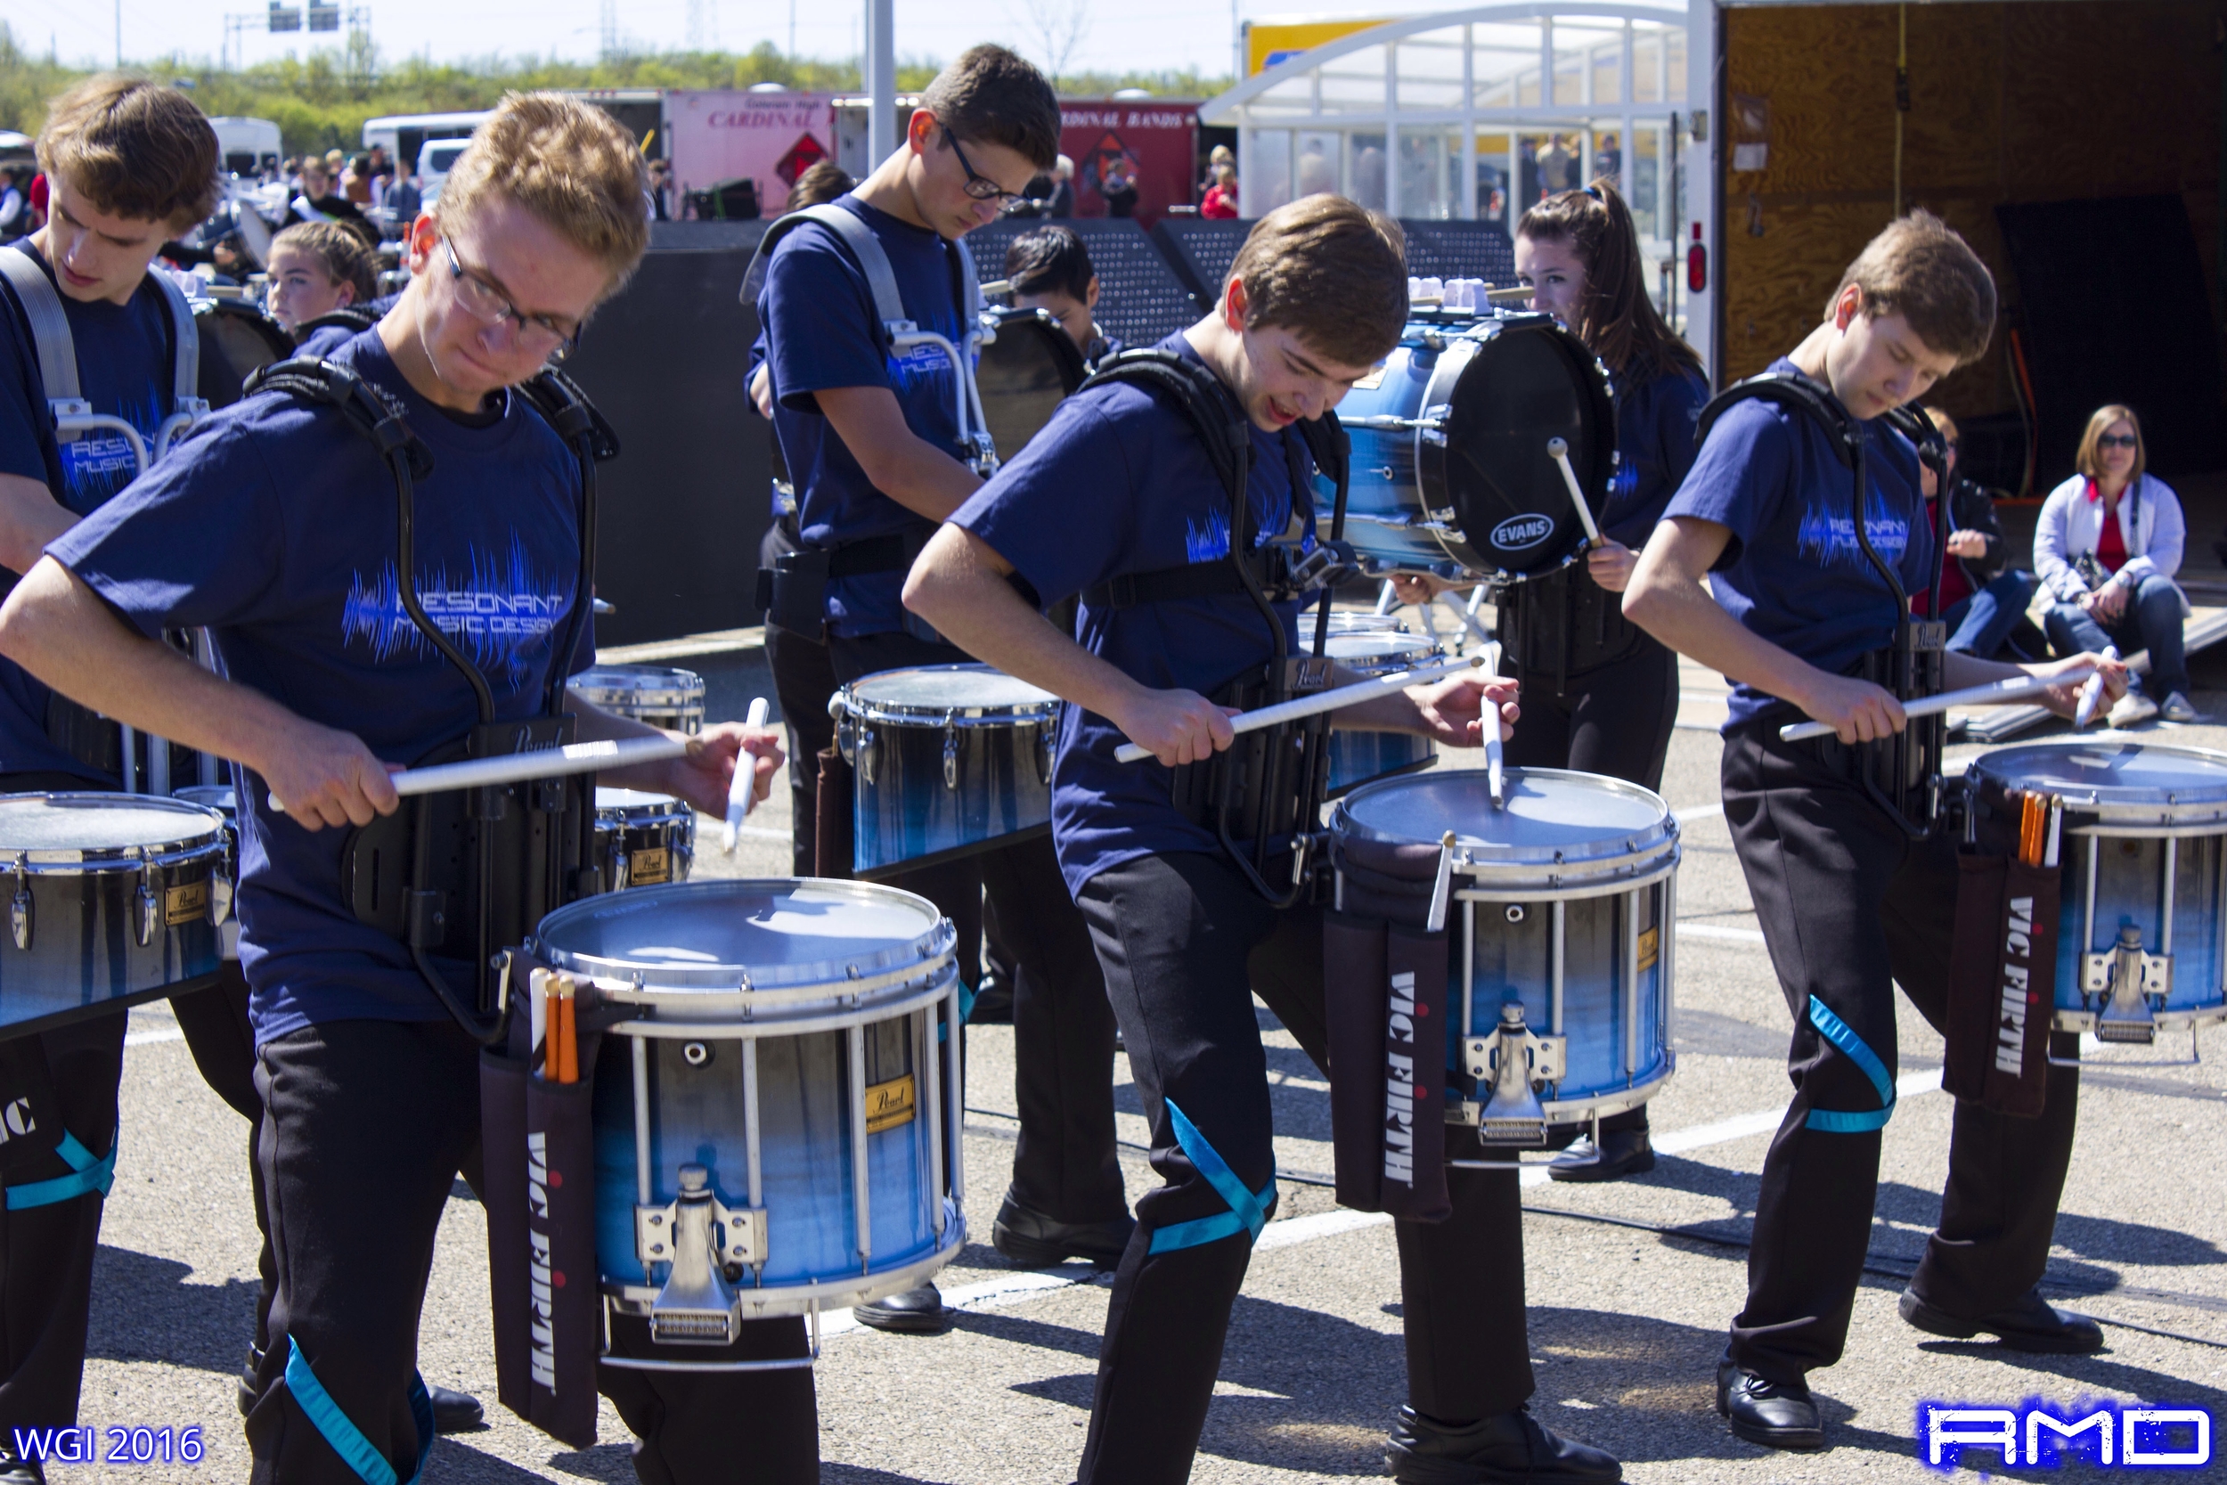
[[[414,521],[425,612],[488,677],[499,719],[537,715],[579,599],[572,452],[512,394],[485,427],[443,414],[379,332],[330,361],[401,399],[432,450]],[[394,479],[372,443],[332,410],[267,392],[200,423],[47,552],[140,632],[209,626],[234,681],[412,764],[479,712],[403,612],[394,541]],[[588,619],[566,675],[592,655]],[[341,895],[350,833],[272,813],[261,784],[243,806],[236,906],[256,1042],[332,1020],[441,1020],[410,951]]]

